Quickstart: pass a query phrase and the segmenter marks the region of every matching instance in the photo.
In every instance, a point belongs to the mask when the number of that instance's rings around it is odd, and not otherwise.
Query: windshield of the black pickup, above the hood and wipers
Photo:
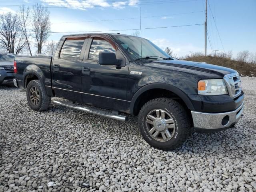
[[[134,60],[146,57],[161,60],[163,58],[170,58],[170,55],[164,52],[164,50],[160,49],[147,39],[140,39],[140,37],[134,36],[115,36],[115,39]]]

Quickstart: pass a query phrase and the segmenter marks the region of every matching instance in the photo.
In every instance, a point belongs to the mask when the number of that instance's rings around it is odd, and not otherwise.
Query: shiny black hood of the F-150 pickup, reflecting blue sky
[[[193,62],[193,61],[184,61],[184,60],[157,60],[152,61],[147,60],[148,62],[144,63],[146,66],[154,66],[157,68],[163,68],[171,70],[172,68],[186,68],[190,70],[202,71],[211,74],[218,74],[220,76],[224,76],[226,74],[235,73],[236,71],[227,67],[222,67],[218,65],[212,65],[201,62]]]

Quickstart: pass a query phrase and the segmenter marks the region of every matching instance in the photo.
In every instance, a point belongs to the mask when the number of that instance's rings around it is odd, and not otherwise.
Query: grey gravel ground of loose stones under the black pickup
[[[193,133],[170,152],[151,148],[136,118],[55,104],[35,112],[25,92],[0,86],[0,191],[256,192],[256,78],[242,82],[245,111],[235,129]]]

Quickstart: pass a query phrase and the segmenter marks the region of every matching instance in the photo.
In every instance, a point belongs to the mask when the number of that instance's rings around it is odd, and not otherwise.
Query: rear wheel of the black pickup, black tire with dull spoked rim
[[[35,91],[36,90],[36,91]],[[30,108],[32,108],[35,111],[44,111],[48,109],[51,103],[51,97],[47,95],[46,90],[40,80],[32,80],[28,83],[27,86],[27,100]],[[34,94],[32,92],[36,92],[37,94]],[[36,99],[32,100],[30,97],[35,95]],[[35,101],[36,100],[36,101]]]

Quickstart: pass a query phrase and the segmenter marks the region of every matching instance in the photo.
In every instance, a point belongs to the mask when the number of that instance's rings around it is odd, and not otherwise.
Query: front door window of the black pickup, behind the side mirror
[[[90,48],[89,59],[99,60],[100,52],[116,53],[113,46],[103,38],[93,38],[92,45]]]

